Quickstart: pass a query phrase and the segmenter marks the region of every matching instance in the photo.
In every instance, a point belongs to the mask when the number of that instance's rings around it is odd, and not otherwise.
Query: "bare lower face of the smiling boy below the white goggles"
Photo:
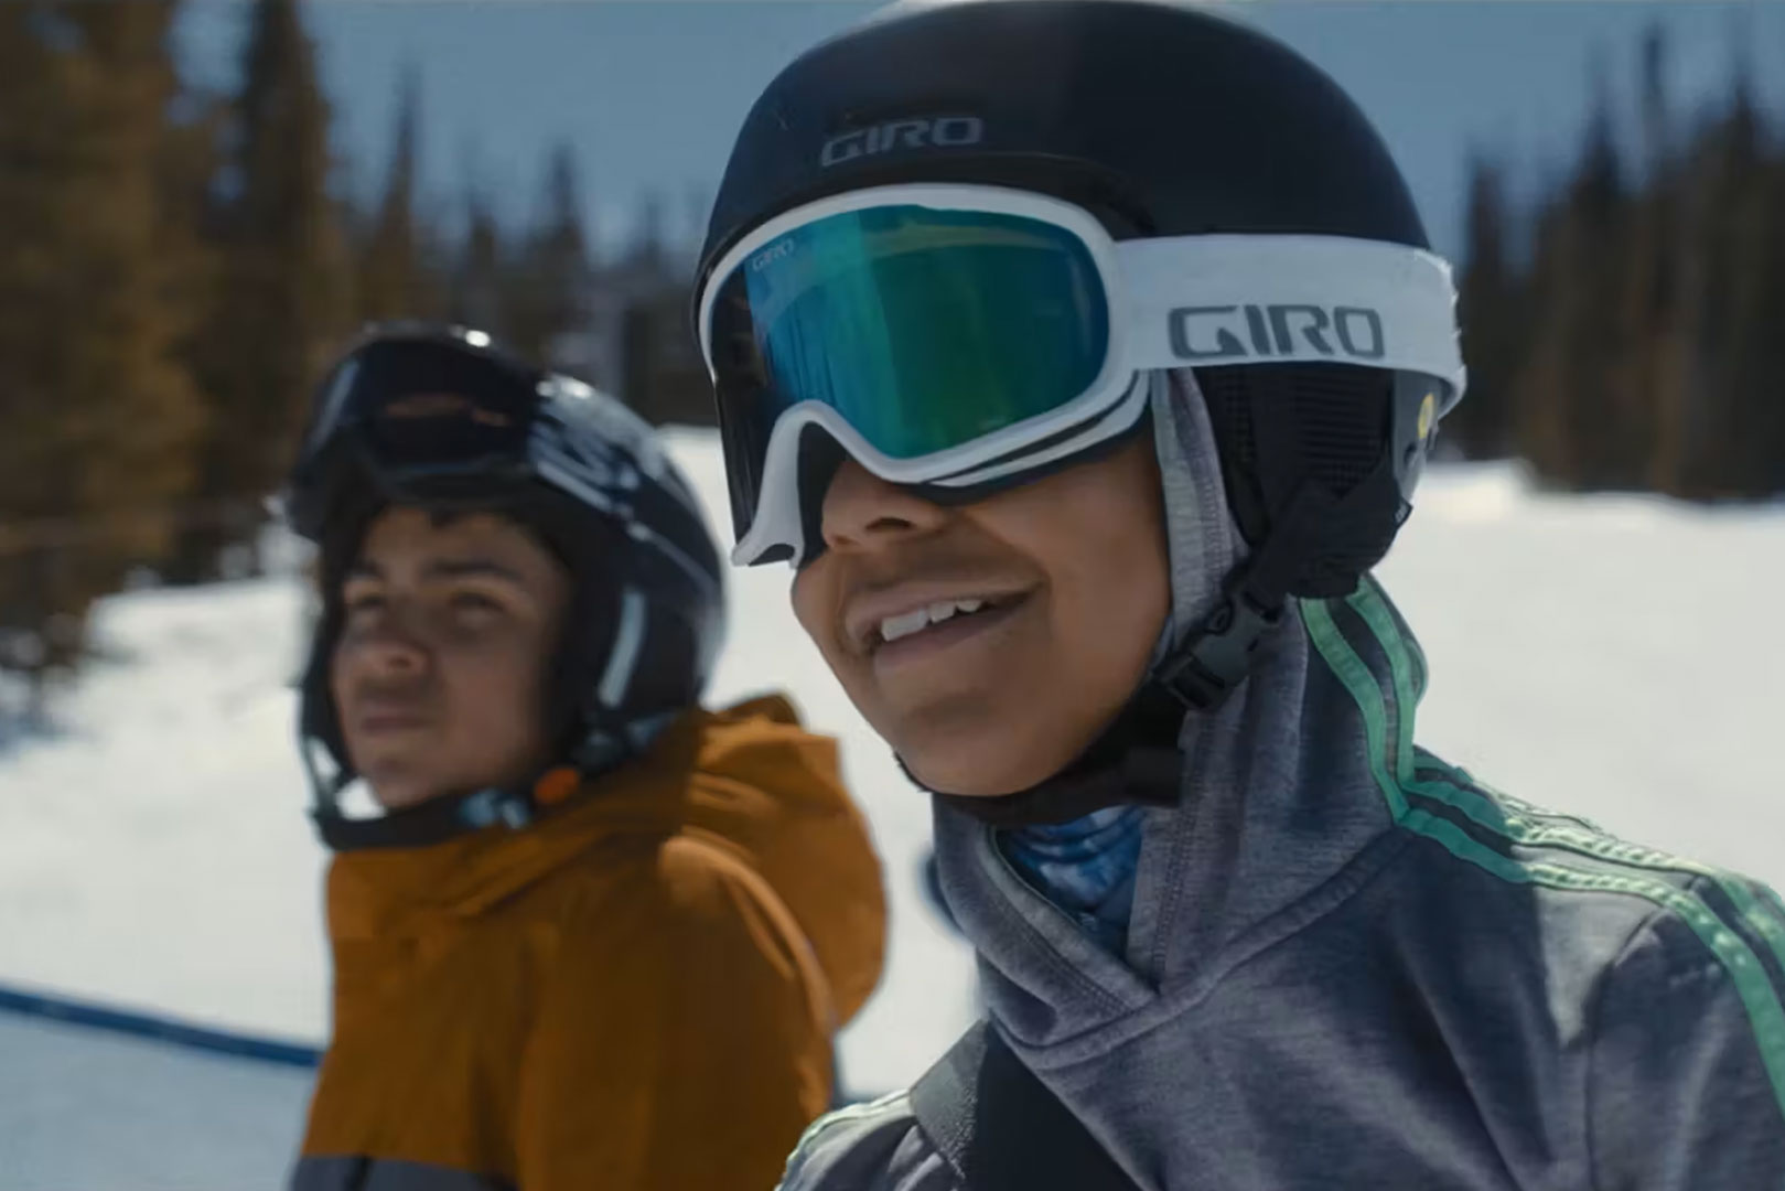
[[[1141,684],[1171,607],[1144,434],[964,507],[848,461],[823,534],[794,614],[875,730],[948,793],[1066,768]]]

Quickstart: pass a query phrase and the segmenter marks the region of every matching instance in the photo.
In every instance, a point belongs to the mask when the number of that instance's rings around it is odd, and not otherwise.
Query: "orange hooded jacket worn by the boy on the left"
[[[295,1187],[768,1191],[885,904],[834,741],[760,698],[525,830],[341,854],[328,930]]]

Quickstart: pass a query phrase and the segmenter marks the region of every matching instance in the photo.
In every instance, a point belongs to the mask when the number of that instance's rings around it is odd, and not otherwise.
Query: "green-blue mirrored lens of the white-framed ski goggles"
[[[832,407],[892,459],[971,443],[1085,393],[1108,339],[1103,282],[1075,234],[917,205],[828,216],[764,245],[712,314],[728,446],[750,445],[750,471],[801,402]]]

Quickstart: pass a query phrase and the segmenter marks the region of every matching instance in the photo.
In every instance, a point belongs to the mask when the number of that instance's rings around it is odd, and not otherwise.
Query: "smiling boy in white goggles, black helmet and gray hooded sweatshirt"
[[[1414,745],[1369,571],[1453,307],[1208,11],[898,5],[769,84],[696,295],[734,561],[932,793],[989,1012],[789,1191],[1781,1186],[1778,896]]]

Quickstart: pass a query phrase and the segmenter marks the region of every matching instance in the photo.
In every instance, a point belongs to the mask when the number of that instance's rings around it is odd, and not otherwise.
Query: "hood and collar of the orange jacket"
[[[880,975],[884,891],[835,741],[782,696],[693,709],[653,746],[523,830],[489,827],[421,848],[343,852],[328,871],[328,932],[355,939],[450,932],[577,866],[625,862],[691,837],[757,871],[793,912],[841,1020]]]

